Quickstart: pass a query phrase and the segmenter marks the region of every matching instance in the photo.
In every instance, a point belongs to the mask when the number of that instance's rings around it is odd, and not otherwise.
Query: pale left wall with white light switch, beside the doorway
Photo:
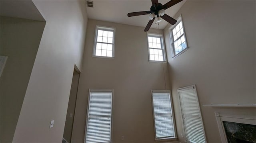
[[[46,20],[14,142],[62,141],[74,65],[82,69],[84,1],[33,1]],[[54,127],[50,121],[54,120]]]

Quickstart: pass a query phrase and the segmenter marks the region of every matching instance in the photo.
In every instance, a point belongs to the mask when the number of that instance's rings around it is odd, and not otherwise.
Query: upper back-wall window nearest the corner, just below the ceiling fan
[[[163,36],[148,33],[149,61],[166,61]]]

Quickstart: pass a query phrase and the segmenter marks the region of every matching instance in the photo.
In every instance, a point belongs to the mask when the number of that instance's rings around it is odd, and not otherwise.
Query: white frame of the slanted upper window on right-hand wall
[[[184,38],[185,38],[185,43],[186,43],[186,48],[183,49],[182,51],[180,51],[178,54],[175,55],[175,47],[174,47],[174,37],[173,37],[173,33],[172,33],[172,30],[176,27],[176,25],[178,25],[180,22],[182,22],[182,28],[183,28],[183,34],[184,35]],[[169,28],[169,31],[170,31],[170,43],[171,43],[171,51],[172,51],[172,59],[178,57],[178,55],[184,53],[185,51],[188,50],[188,43],[187,43],[187,39],[186,39],[186,33],[185,33],[185,28],[184,28],[184,24],[183,24],[183,20],[182,20],[182,16],[180,15],[177,19],[177,22],[176,24],[172,25],[170,28]],[[180,37],[182,37],[182,35],[180,35]],[[180,38],[179,37],[179,38]],[[178,38],[178,39],[179,39]],[[177,39],[176,39],[177,40]]]

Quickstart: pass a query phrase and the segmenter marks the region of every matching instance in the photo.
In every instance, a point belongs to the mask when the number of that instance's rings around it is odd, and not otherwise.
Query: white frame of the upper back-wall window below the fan
[[[165,47],[164,47],[164,35],[147,32],[147,44],[148,44],[148,36],[150,36],[150,37],[157,37],[157,38],[160,37],[161,46],[162,46],[162,49],[161,49],[161,50],[163,51],[163,60],[164,60],[164,61],[154,61],[154,60],[150,60],[149,49],[154,49],[154,48],[149,48],[149,45],[148,45],[148,61],[150,61],[150,62],[157,62],[157,63],[167,63],[167,60],[166,60],[166,51],[165,51]],[[159,49],[158,49],[158,50],[159,50]]]

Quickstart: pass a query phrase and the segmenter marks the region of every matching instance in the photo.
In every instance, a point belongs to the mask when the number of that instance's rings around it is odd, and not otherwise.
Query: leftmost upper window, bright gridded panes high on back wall
[[[96,26],[93,56],[114,57],[115,28]]]

